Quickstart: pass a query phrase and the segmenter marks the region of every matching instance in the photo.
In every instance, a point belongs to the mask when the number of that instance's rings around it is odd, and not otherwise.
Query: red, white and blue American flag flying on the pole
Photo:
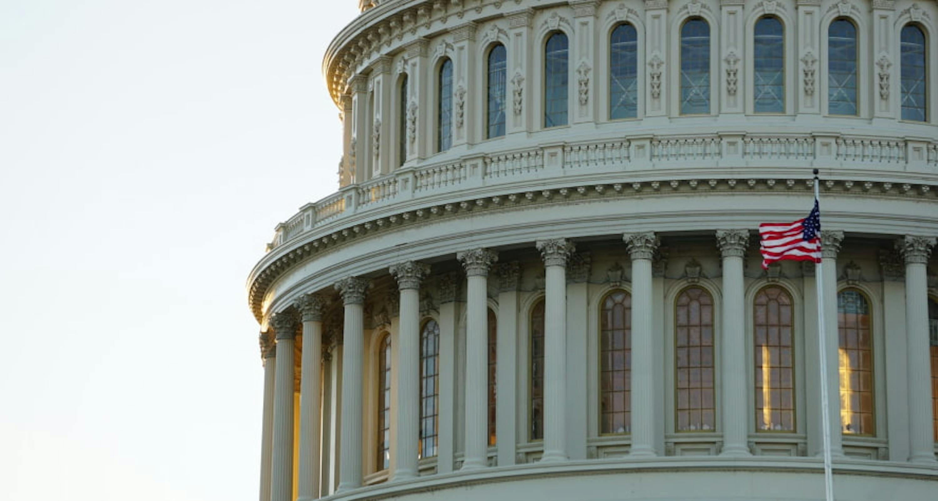
[[[807,218],[794,222],[764,222],[759,225],[763,269],[783,259],[821,262],[821,210],[817,199]]]

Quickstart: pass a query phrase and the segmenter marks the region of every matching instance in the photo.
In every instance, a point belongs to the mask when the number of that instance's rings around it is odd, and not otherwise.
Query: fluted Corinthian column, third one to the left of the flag
[[[567,258],[565,238],[538,240],[544,258],[544,453],[542,462],[567,461]]]

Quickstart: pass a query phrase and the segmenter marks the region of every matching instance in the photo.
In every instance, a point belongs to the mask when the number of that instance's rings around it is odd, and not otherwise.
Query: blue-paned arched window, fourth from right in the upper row
[[[681,114],[710,113],[710,25],[701,18],[681,26]]]

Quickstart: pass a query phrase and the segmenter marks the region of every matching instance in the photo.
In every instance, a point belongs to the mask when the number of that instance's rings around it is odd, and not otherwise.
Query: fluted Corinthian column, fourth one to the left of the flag
[[[463,470],[488,465],[489,448],[489,268],[498,254],[474,249],[456,254],[466,270],[466,402]]]

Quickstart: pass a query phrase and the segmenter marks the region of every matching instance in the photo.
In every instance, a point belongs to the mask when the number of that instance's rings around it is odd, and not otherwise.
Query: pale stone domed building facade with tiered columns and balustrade
[[[324,61],[343,117],[340,189],[281,223],[249,278],[264,332],[262,501],[818,499],[822,338],[837,498],[935,498],[934,3],[359,5]],[[773,114],[757,113],[754,98],[763,85],[754,32],[766,16],[783,26]],[[709,29],[705,114],[681,113],[699,90],[688,81],[700,69],[682,67],[688,20]],[[843,38],[829,28],[841,20],[855,29],[850,116],[830,113],[829,101],[843,96],[831,89],[843,70],[831,66],[830,44]],[[610,119],[620,84],[610,39],[623,23],[637,35],[635,116]],[[903,73],[909,25],[927,40],[921,98]],[[567,38],[566,125],[544,127],[553,106],[545,93],[557,81],[546,74],[545,45],[556,33]],[[504,134],[488,138],[487,61],[498,44]],[[924,120],[903,111],[915,99],[925,99],[916,109]],[[815,320],[814,266],[764,271],[756,232],[807,215],[813,168],[822,179],[825,326]],[[791,312],[792,418],[774,429],[758,414],[772,407],[758,403],[768,393],[757,389],[769,385],[759,362],[768,348],[755,341],[766,287],[784,291]],[[693,366],[712,381],[712,402],[698,405],[712,417],[700,427],[682,424],[691,411],[679,389],[679,311],[691,289],[705,292],[713,314],[712,360]],[[630,301],[628,426],[604,433],[602,311],[614,294]],[[846,341],[849,295],[865,301],[856,318],[869,325],[856,332],[869,342],[859,350]],[[439,331],[431,369],[419,334],[429,320]],[[418,409],[428,377],[432,442]],[[543,402],[533,403],[540,391]],[[533,409],[543,412],[537,426]]]

